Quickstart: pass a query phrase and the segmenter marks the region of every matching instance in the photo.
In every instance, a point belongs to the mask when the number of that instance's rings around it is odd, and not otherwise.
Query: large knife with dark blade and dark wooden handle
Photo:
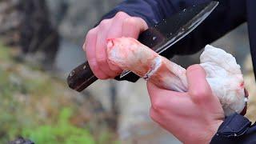
[[[184,9],[142,32],[138,37],[138,41],[150,47],[158,54],[162,54],[170,46],[173,46],[174,43],[190,34],[192,30],[210,15],[216,6],[218,6],[218,2],[206,2]],[[117,79],[129,79],[131,82],[136,82],[138,78],[136,74],[124,71]],[[84,62],[70,72],[67,83],[71,89],[81,92],[97,80],[98,78],[90,70],[88,62]]]

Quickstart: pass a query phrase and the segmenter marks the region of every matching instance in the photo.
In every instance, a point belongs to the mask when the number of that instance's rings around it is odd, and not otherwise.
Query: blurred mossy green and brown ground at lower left
[[[86,97],[37,66],[14,61],[0,43],[0,143],[18,136],[40,143],[114,143]]]

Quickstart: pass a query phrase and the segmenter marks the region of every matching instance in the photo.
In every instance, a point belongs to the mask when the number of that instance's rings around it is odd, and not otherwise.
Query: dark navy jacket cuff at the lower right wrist
[[[218,128],[210,144],[249,144],[256,143],[256,123],[251,122],[240,114],[230,115]]]

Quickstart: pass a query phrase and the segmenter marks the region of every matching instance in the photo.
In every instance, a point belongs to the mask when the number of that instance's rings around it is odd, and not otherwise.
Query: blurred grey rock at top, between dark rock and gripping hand
[[[58,25],[62,38],[82,44],[90,30],[103,14],[122,0],[46,0],[52,20]]]

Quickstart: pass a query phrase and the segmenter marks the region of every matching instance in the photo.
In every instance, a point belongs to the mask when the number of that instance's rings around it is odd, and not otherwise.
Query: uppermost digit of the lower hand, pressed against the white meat
[[[190,66],[186,70],[189,84],[189,94],[194,100],[203,101],[212,96],[212,91],[206,81],[206,71],[200,65]]]

